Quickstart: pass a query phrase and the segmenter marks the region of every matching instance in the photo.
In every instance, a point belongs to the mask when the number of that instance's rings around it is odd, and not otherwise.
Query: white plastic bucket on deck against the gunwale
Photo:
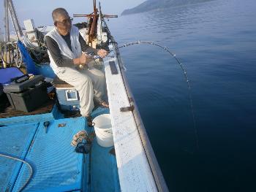
[[[114,145],[112,126],[109,114],[99,115],[94,118],[94,131],[97,143],[102,147],[111,147]]]

